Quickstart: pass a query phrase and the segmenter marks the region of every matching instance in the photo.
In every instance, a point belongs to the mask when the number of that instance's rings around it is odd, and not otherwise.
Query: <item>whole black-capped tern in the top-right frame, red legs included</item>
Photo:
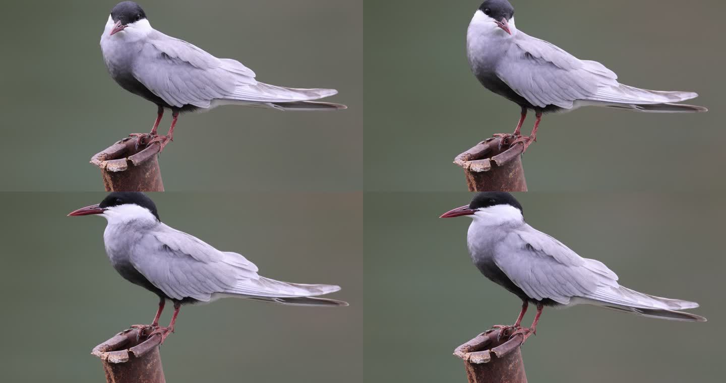
[[[619,83],[618,76],[600,62],[581,60],[547,41],[515,27],[514,7],[507,0],[486,0],[471,19],[466,52],[476,78],[490,91],[521,107],[512,144],[529,147],[537,141],[544,112],[584,106],[612,107],[640,112],[706,112],[704,107],[674,104],[698,94],[686,91],[648,91]],[[520,136],[527,110],[537,120],[530,136]]]

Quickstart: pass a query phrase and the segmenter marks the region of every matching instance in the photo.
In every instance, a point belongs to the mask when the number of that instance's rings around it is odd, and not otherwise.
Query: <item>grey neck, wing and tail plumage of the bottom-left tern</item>
[[[265,278],[240,254],[216,250],[161,222],[144,226],[138,222],[109,220],[104,233],[107,254],[122,276],[132,268],[171,300],[209,302],[228,296],[283,304],[345,305],[335,300],[298,299],[336,292],[338,286]]]

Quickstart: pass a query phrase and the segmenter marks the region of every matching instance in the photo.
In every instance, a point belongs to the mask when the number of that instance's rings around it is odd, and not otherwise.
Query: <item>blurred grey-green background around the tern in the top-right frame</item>
[[[724,189],[722,15],[694,0],[513,0],[517,27],[631,86],[698,91],[711,108],[668,115],[582,108],[545,115],[524,155],[531,191]],[[460,191],[456,155],[511,133],[519,107],[472,75],[466,29],[481,0],[366,0],[365,189]],[[534,118],[523,132],[529,133]]]

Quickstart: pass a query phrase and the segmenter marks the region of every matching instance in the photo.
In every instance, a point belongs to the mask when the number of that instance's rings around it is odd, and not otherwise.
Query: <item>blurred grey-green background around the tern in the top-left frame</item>
[[[99,39],[110,1],[14,1],[0,23],[2,190],[100,191],[92,155],[146,133],[154,104],[107,74]],[[219,107],[179,118],[161,155],[171,191],[362,188],[362,0],[139,1],[154,28],[259,81],[337,88],[340,112]],[[170,113],[160,125],[166,132]]]

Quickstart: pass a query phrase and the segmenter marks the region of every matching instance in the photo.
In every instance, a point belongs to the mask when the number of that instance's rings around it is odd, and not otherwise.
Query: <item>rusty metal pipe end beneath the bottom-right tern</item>
[[[522,337],[502,342],[499,331],[486,331],[454,350],[454,355],[464,361],[469,383],[527,382],[520,351]]]

